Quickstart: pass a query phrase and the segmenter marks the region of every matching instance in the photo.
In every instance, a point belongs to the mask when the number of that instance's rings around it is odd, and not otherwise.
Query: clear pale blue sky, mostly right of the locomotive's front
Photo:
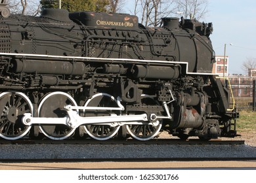
[[[125,7],[123,9],[129,13],[133,0],[129,0]],[[247,58],[256,58],[256,1],[209,0],[208,13],[200,21],[213,23],[210,38],[216,56],[224,55],[226,44],[228,73],[247,74],[242,70],[242,63]]]

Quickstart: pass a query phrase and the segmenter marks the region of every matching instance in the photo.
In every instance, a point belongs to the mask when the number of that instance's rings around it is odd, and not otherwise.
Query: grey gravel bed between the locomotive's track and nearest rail
[[[256,158],[248,145],[1,144],[1,159]]]

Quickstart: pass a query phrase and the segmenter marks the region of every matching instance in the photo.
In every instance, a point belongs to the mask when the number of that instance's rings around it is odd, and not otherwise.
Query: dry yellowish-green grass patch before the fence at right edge
[[[240,111],[236,121],[236,130],[240,132],[256,132],[256,112]]]

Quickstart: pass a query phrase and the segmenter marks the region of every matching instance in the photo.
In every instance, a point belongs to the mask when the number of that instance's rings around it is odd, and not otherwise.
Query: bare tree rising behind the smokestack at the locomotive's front
[[[207,13],[208,0],[175,0],[175,4],[185,19],[200,20]]]

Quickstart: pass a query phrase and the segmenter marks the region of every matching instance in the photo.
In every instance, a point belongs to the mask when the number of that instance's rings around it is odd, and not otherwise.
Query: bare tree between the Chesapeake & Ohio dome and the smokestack
[[[135,15],[140,17],[140,23],[145,26],[160,25],[161,18],[174,12],[171,0],[135,0]]]

